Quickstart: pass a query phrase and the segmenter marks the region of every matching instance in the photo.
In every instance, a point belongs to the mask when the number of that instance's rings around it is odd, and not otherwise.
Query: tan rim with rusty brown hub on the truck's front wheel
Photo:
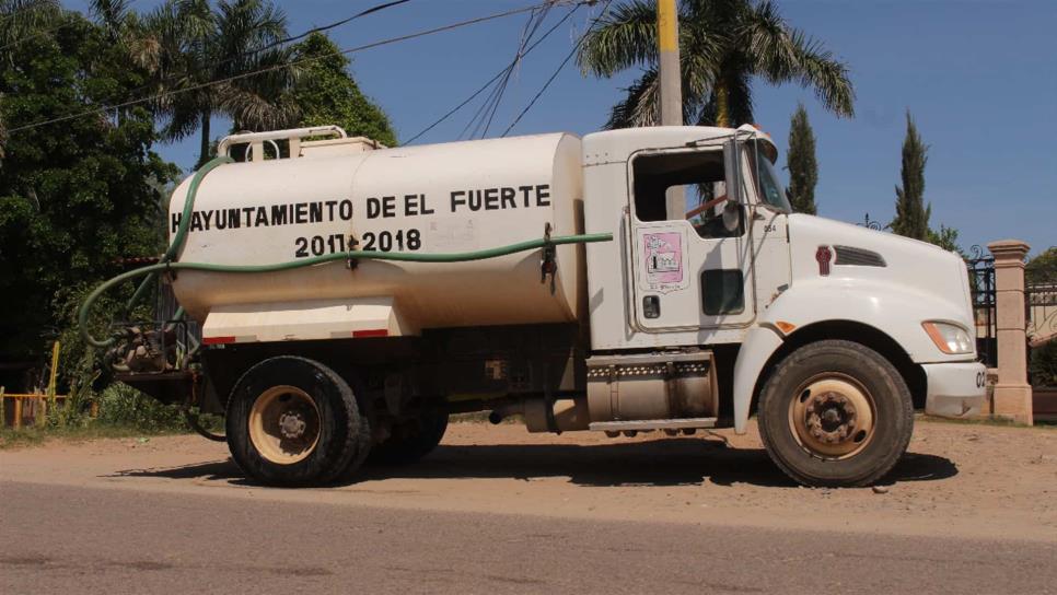
[[[823,374],[803,383],[789,404],[789,428],[809,454],[849,458],[873,439],[876,405],[859,382]]]

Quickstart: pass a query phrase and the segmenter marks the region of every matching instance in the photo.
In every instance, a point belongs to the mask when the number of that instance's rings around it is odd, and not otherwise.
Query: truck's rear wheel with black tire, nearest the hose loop
[[[256,425],[260,430],[252,429],[251,411],[262,398],[278,401],[275,407],[283,407],[283,397],[290,399],[287,393],[301,399],[302,410],[311,409],[309,425],[315,440],[311,446],[299,444],[297,456],[302,458],[279,460],[287,456],[282,443],[279,442],[277,453],[277,446],[260,440],[260,432],[274,430],[274,424],[262,422]],[[259,411],[262,405],[257,407]],[[258,415],[262,417],[267,416]],[[304,423],[300,430],[304,431]],[[293,355],[267,359],[239,378],[228,399],[226,432],[228,447],[239,467],[249,478],[278,487],[326,485],[348,470],[352,462],[362,462],[371,447],[367,416],[360,413],[349,384],[322,363]],[[259,444],[255,444],[254,435],[258,436]],[[274,433],[268,435],[278,438]],[[270,457],[262,450],[270,451]]]

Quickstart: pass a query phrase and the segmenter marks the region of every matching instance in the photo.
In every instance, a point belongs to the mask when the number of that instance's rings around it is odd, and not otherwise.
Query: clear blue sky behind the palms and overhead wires
[[[616,0],[619,1],[619,0]],[[68,1],[83,10],[86,2]],[[138,0],[137,10],[158,2]],[[291,32],[374,5],[379,0],[280,1]],[[330,32],[353,47],[534,0],[413,0]],[[926,200],[931,223],[956,228],[964,246],[1015,237],[1036,253],[1057,244],[1057,1],[1053,0],[779,0],[793,26],[817,37],[851,69],[858,96],[853,119],[827,114],[811,91],[757,82],[756,120],[787,145],[789,116],[804,102],[815,130],[820,214],[887,222],[899,183],[904,114],[914,115],[930,145]],[[600,3],[601,7],[601,3]],[[597,13],[601,8],[592,9]],[[555,9],[550,22],[565,9]],[[573,47],[585,26],[581,9],[521,65],[490,133],[498,135]],[[352,72],[408,139],[462,102],[512,58],[526,15],[367,50]],[[597,130],[628,72],[612,80],[564,69],[513,133]],[[457,113],[421,142],[458,138],[477,104]],[[218,121],[214,130],[225,130]],[[183,167],[197,140],[160,147]],[[780,164],[783,158],[780,158]]]

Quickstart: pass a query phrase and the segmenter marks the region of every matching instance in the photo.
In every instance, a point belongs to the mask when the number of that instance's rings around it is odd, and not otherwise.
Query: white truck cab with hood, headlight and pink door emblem
[[[600,132],[584,138],[583,152],[586,230],[618,238],[586,247],[595,353],[707,346],[713,365],[723,353],[734,361],[729,374],[717,370],[732,407],[720,406],[719,423],[743,433],[758,410],[768,450],[783,438],[799,446],[785,458],[864,451],[888,431],[882,413],[897,409],[879,402],[882,393],[906,393],[907,424],[911,405],[944,417],[979,412],[986,373],[966,269],[953,253],[792,213],[777,149],[752,126]],[[833,360],[801,378],[822,355]],[[857,377],[864,371],[837,370],[841,358],[875,360],[899,386],[867,386]],[[782,401],[769,416],[781,423],[765,422],[771,404],[762,397]]]

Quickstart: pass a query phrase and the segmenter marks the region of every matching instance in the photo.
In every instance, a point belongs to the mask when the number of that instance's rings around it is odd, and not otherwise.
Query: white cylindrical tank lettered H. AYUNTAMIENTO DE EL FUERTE
[[[259,148],[259,143],[256,145]],[[542,135],[364,150],[304,142],[303,156],[222,165],[204,178],[184,262],[267,265],[357,248],[462,253],[582,233],[580,139]],[[170,237],[189,187],[170,201]],[[557,248],[555,291],[541,250],[468,262],[345,260],[271,273],[181,271],[176,299],[205,322],[218,306],[388,298],[411,326],[578,319],[582,246]],[[267,312],[267,308],[264,308]]]

